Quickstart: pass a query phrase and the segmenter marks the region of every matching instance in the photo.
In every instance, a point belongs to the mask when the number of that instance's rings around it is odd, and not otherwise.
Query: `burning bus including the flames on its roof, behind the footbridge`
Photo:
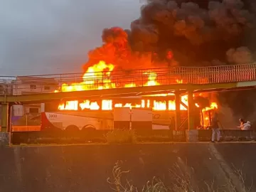
[[[117,87],[137,87],[161,85],[158,81],[158,73],[154,70],[144,70],[139,75],[132,74],[126,76],[125,72],[117,73],[118,78],[112,78],[114,65],[100,61],[87,68],[82,75],[80,82],[66,82],[60,85],[55,92],[72,92],[81,90],[103,90]],[[169,69],[161,73],[170,73]],[[134,72],[135,73],[135,72]],[[115,76],[114,76],[115,77]],[[136,81],[126,78],[134,77]],[[122,82],[121,82],[122,80]],[[137,83],[137,84],[136,84]],[[178,75],[169,79],[169,83],[186,83]],[[132,129],[169,129],[171,117],[175,117],[175,96],[173,93],[161,95],[148,95],[140,97],[120,97],[114,100],[73,100],[58,103],[58,107],[53,104],[46,105],[45,112],[41,115],[42,129],[58,128],[68,129],[114,129],[129,127]],[[187,105],[188,95],[181,96],[181,127],[187,128]],[[50,109],[50,107],[51,109]],[[197,118],[194,127],[198,127],[201,122],[207,122],[205,117],[207,110],[217,107],[215,102],[209,102],[203,107],[196,103]],[[57,110],[58,109],[58,110]]]

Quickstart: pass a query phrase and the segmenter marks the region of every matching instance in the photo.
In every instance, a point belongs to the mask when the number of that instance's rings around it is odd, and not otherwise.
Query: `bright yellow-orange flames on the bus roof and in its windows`
[[[109,63],[105,63],[104,61],[100,61],[99,63],[90,66],[87,68],[87,71],[82,76],[82,82],[73,82],[70,85],[64,83],[61,86],[61,92],[72,92],[72,91],[82,91],[82,90],[102,90],[102,89],[110,89],[117,87],[115,82],[112,82],[110,76],[112,71],[114,70],[114,65]],[[157,82],[157,74],[154,71],[147,71],[144,73],[147,78],[144,86],[154,86],[160,85]],[[127,81],[129,82],[129,80]],[[176,83],[183,83],[182,79],[175,80]],[[134,82],[130,82],[122,85],[123,87],[136,87],[137,85]],[[55,92],[59,92],[55,90]],[[176,110],[175,100],[165,100],[164,97],[170,94],[158,94],[158,95],[148,95],[148,96],[161,96],[163,100],[154,100],[152,97],[151,100],[141,100],[140,103],[132,104],[132,103],[113,103],[112,100],[102,100],[101,103],[97,101],[85,100],[83,102],[78,103],[78,101],[67,101],[65,103],[61,103],[58,106],[59,110],[112,110],[113,107],[151,107],[153,110]],[[181,96],[181,106],[180,110],[187,110],[188,106],[188,95]],[[196,104],[196,107],[199,107]],[[204,121],[208,120],[208,111],[217,109],[218,105],[215,102],[211,102],[209,107],[206,107],[202,110]],[[207,124],[207,123],[206,123]]]

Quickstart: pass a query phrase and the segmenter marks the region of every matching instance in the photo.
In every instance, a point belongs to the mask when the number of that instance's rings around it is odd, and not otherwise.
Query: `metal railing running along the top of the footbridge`
[[[39,92],[99,90],[174,84],[209,84],[256,80],[256,63],[210,67],[151,68],[95,73],[69,73],[0,77],[1,84],[13,86],[14,95]],[[72,86],[70,86],[72,85]],[[1,89],[1,87],[0,87]]]

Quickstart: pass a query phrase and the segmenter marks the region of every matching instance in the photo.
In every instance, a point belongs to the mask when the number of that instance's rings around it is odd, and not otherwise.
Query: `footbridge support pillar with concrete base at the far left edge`
[[[1,104],[2,117],[1,117],[1,132],[0,132],[0,146],[9,144],[9,125],[11,122],[11,105],[9,103]]]

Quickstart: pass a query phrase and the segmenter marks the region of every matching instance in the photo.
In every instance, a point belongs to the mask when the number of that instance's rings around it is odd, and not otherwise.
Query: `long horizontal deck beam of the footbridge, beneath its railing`
[[[254,84],[253,84],[254,83]],[[0,95],[0,102],[21,102],[24,104],[41,103],[41,102],[53,102],[60,100],[80,100],[80,99],[93,99],[93,98],[105,98],[111,99],[114,97],[128,97],[138,95],[154,95],[161,93],[173,92],[174,90],[181,90],[186,92],[188,88],[193,90],[200,90],[199,92],[208,91],[220,91],[222,89],[240,90],[243,87],[255,87],[256,81],[250,85],[242,84],[238,87],[237,82],[225,82],[225,83],[212,83],[212,84],[199,84],[199,85],[188,85],[188,84],[174,84],[174,85],[156,85],[156,86],[144,86],[144,87],[122,87],[105,90],[86,90],[76,92],[52,92],[52,93],[41,93],[32,95]],[[240,83],[241,84],[241,83]]]

